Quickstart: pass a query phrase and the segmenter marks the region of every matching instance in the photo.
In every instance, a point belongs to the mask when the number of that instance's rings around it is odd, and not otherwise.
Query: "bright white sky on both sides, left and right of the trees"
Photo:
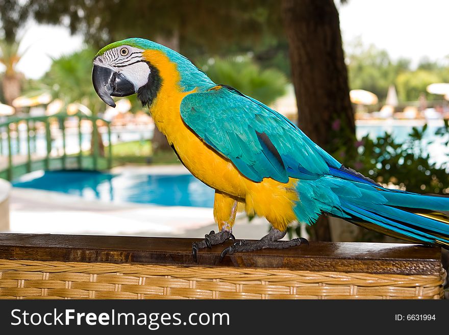
[[[340,6],[344,42],[361,37],[388,51],[394,59],[410,58],[416,65],[422,57],[442,60],[449,55],[449,1],[446,0],[349,0]],[[31,23],[20,49],[30,46],[17,69],[37,79],[51,65],[51,57],[67,55],[83,45],[81,36],[68,29]]]

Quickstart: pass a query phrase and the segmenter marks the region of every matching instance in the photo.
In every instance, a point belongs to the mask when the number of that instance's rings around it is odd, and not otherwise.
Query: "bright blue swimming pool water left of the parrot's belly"
[[[191,174],[37,171],[22,176],[12,182],[12,185],[110,202],[213,207],[214,201],[214,191]]]

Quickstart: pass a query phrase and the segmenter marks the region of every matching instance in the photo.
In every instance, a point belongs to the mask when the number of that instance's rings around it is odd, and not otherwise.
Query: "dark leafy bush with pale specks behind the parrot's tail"
[[[391,134],[385,133],[376,139],[368,136],[360,141],[354,139],[357,149],[354,158],[346,156],[347,148],[339,140],[339,130],[335,130],[333,156],[347,167],[352,167],[374,181],[386,185],[396,185],[415,193],[443,193],[449,188],[449,159],[441,166],[430,162],[425,148],[431,143],[425,138],[427,125],[422,130],[413,127],[404,143],[398,143]],[[449,126],[445,121],[437,137],[449,144]],[[351,148],[350,148],[351,149]]]

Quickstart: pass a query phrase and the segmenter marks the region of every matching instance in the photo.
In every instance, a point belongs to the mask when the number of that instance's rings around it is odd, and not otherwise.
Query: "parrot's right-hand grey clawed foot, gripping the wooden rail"
[[[261,238],[259,241],[239,241],[227,247],[221,252],[220,262],[223,260],[224,256],[227,254],[233,254],[239,251],[254,251],[260,249],[286,249],[301,244],[309,244],[305,238],[297,238],[290,241],[278,241],[285,236],[286,231],[281,231],[276,228],[271,228],[269,233]]]

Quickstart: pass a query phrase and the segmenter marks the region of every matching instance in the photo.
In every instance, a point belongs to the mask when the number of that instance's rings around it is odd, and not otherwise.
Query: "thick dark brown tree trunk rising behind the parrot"
[[[355,134],[349,97],[340,22],[334,0],[283,0],[282,14],[289,42],[298,125],[312,141],[326,149],[332,125],[338,121],[349,150]],[[340,134],[339,134],[340,135]],[[327,217],[313,226],[314,238],[331,238]]]

